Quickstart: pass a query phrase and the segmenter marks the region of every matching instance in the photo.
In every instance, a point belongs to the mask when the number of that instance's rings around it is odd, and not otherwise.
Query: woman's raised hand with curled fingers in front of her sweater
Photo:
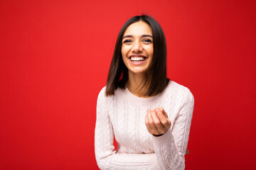
[[[153,110],[148,109],[145,124],[150,134],[161,136],[171,127],[171,120],[169,120],[164,108],[154,108]]]

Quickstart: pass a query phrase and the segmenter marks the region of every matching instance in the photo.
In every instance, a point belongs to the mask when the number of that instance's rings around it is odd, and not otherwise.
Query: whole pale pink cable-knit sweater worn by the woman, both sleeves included
[[[104,87],[97,98],[97,165],[108,170],[185,169],[193,104],[191,91],[174,81],[150,98],[134,96],[128,89],[106,97]],[[171,120],[171,128],[160,137],[149,134],[145,125],[146,110],[155,107],[163,107]]]

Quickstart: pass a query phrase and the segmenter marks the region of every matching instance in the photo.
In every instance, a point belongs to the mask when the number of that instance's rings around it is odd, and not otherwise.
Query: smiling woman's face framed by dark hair
[[[153,34],[144,21],[132,23],[124,32],[122,59],[129,73],[144,73],[153,57]]]

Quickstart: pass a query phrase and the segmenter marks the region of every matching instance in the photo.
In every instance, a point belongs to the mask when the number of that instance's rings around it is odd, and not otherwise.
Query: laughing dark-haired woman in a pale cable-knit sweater
[[[166,78],[166,40],[150,16],[122,26],[97,98],[100,169],[184,169],[193,95]],[[117,140],[114,150],[113,140]]]

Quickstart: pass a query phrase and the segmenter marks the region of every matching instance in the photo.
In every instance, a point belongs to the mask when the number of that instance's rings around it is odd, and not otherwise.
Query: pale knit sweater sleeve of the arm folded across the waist
[[[95,157],[100,169],[159,169],[156,154],[117,153],[113,145],[114,131],[107,111],[105,88],[97,98],[95,125]]]

